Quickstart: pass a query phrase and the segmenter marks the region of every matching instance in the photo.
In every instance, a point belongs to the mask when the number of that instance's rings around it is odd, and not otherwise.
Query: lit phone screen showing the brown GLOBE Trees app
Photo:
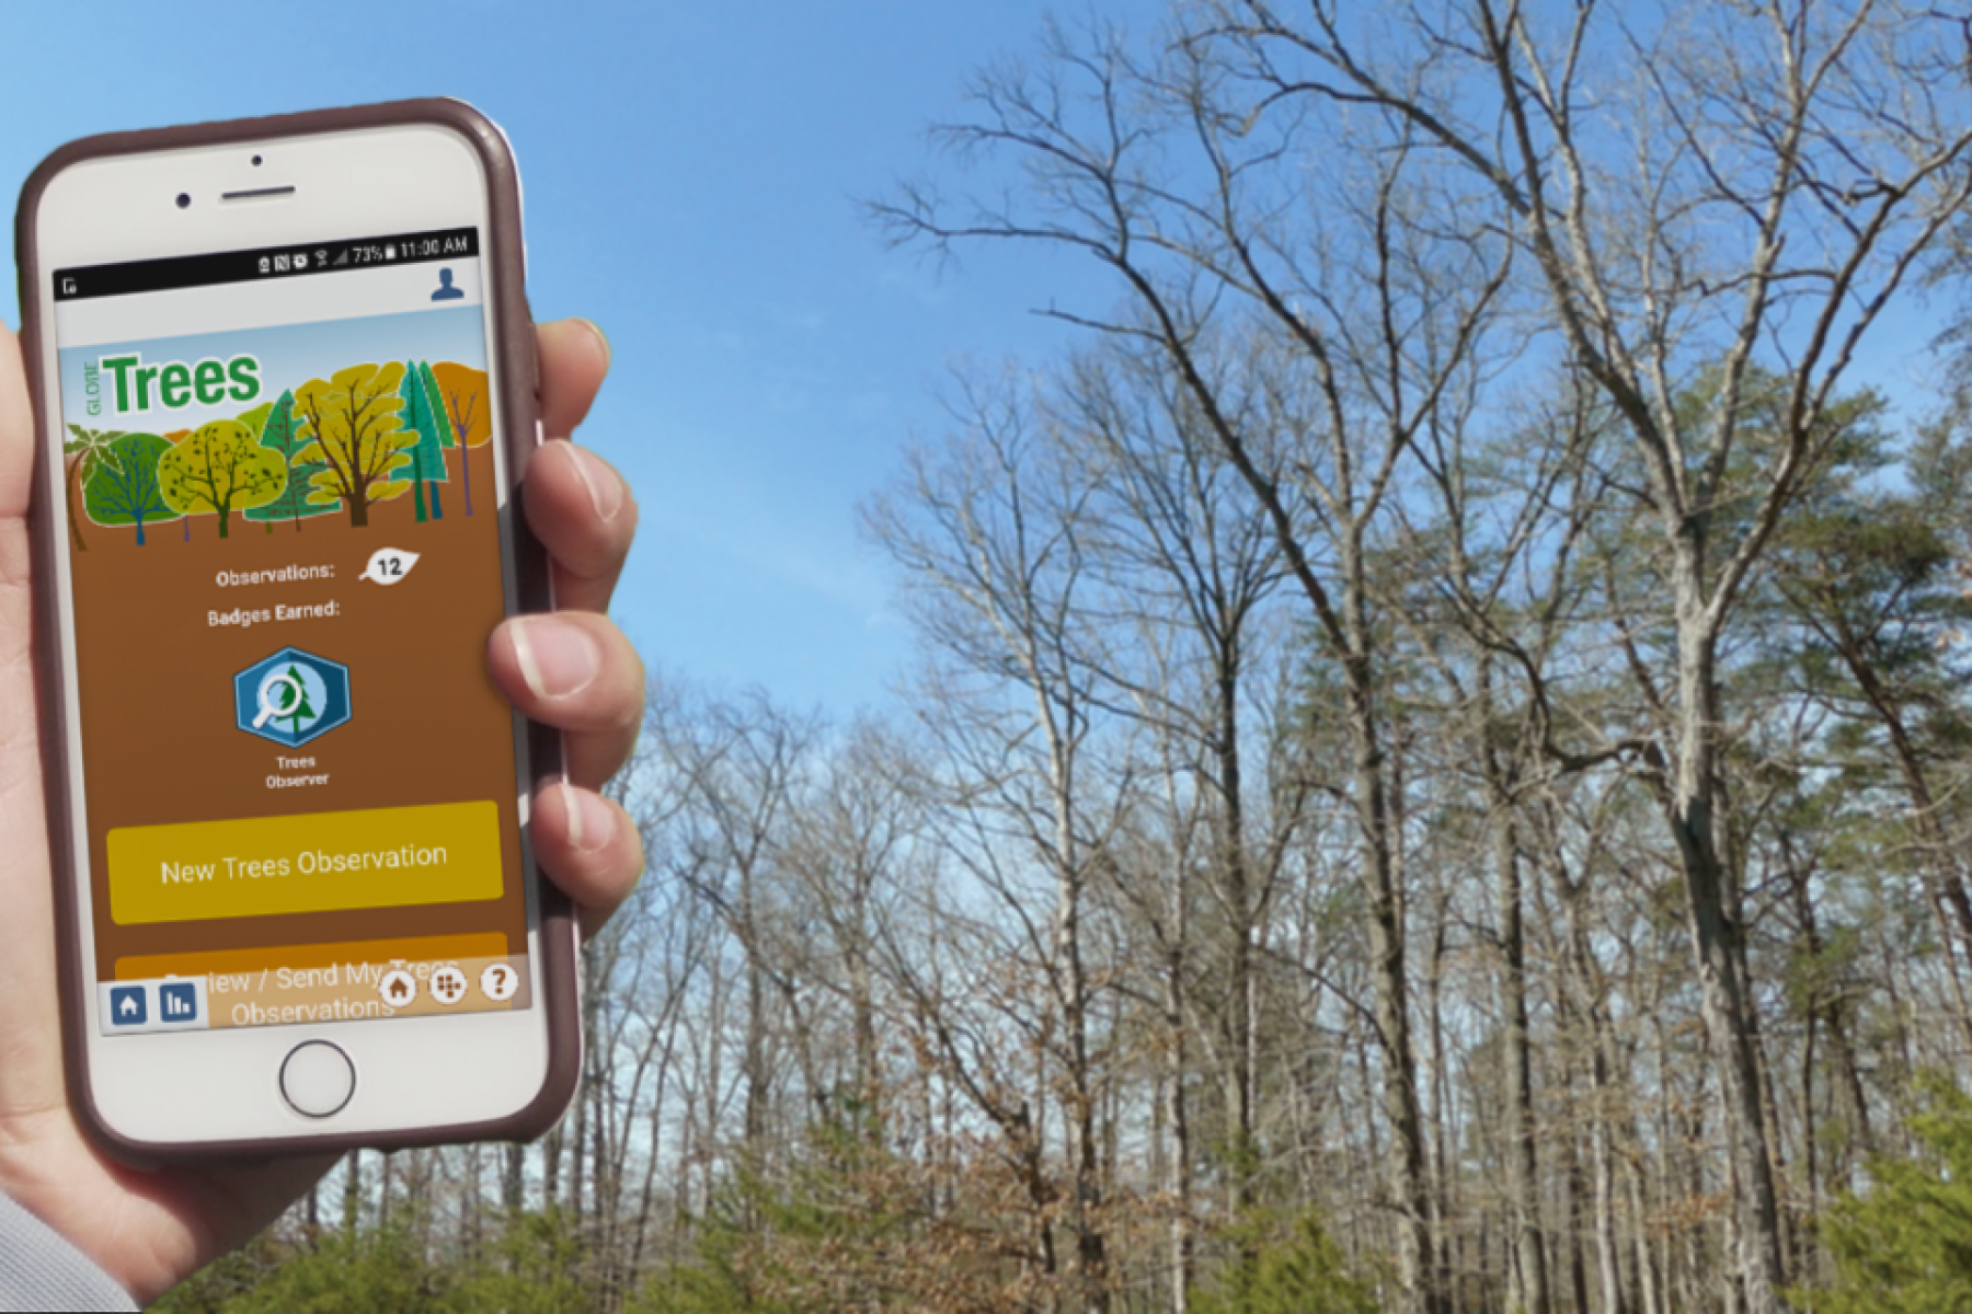
[[[530,1007],[479,254],[53,274],[106,1036]]]

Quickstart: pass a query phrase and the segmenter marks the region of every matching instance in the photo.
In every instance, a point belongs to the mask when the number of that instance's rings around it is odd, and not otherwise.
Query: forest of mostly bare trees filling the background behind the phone
[[[870,493],[893,703],[647,654],[564,1123],[160,1308],[1972,1308],[1968,191],[1944,6],[984,61],[872,227],[1108,299]]]

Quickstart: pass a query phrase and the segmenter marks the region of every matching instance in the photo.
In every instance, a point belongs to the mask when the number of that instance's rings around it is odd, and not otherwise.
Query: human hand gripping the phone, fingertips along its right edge
[[[609,370],[584,321],[540,325],[546,433],[572,433]],[[61,1066],[53,883],[35,737],[28,502],[34,420],[20,345],[0,327],[0,1190],[148,1302],[246,1241],[300,1198],[333,1156],[181,1164],[144,1172],[106,1158],[69,1105]],[[637,526],[629,487],[599,457],[546,443],[525,508],[552,558],[554,617],[503,623],[487,652],[525,715],[566,735],[566,780],[534,792],[542,873],[599,926],[643,869],[629,816],[598,794],[625,762],[643,711],[643,664],[601,613]]]

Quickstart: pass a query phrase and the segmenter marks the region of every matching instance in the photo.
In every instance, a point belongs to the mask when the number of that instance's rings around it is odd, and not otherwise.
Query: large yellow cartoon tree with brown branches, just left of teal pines
[[[404,429],[402,364],[353,364],[294,390],[304,445],[298,457],[319,463],[310,500],[327,494],[349,508],[351,528],[369,524],[371,502],[402,496],[416,431]]]

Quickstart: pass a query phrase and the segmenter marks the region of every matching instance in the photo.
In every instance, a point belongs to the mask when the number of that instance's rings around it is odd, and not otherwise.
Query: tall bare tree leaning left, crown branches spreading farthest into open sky
[[[1057,33],[1043,67],[984,77],[978,118],[945,130],[956,148],[1010,152],[1029,171],[1023,205],[952,215],[915,191],[880,213],[899,236],[1043,240],[1112,270],[1124,307],[1073,317],[1162,357],[1199,435],[1264,510],[1343,676],[1390,1188],[1404,1219],[1398,1279],[1408,1302],[1436,1314],[1447,1296],[1428,1263],[1436,1241],[1371,571],[1410,445],[1493,317],[1509,246],[1485,234],[1436,240],[1424,217],[1463,197],[1440,187],[1442,169],[1408,128],[1329,154],[1343,124],[1268,116],[1266,100],[1240,99],[1209,43],[1173,49],[1140,67],[1120,33],[1094,33],[1087,47]],[[1185,146],[1189,158],[1169,162]]]

